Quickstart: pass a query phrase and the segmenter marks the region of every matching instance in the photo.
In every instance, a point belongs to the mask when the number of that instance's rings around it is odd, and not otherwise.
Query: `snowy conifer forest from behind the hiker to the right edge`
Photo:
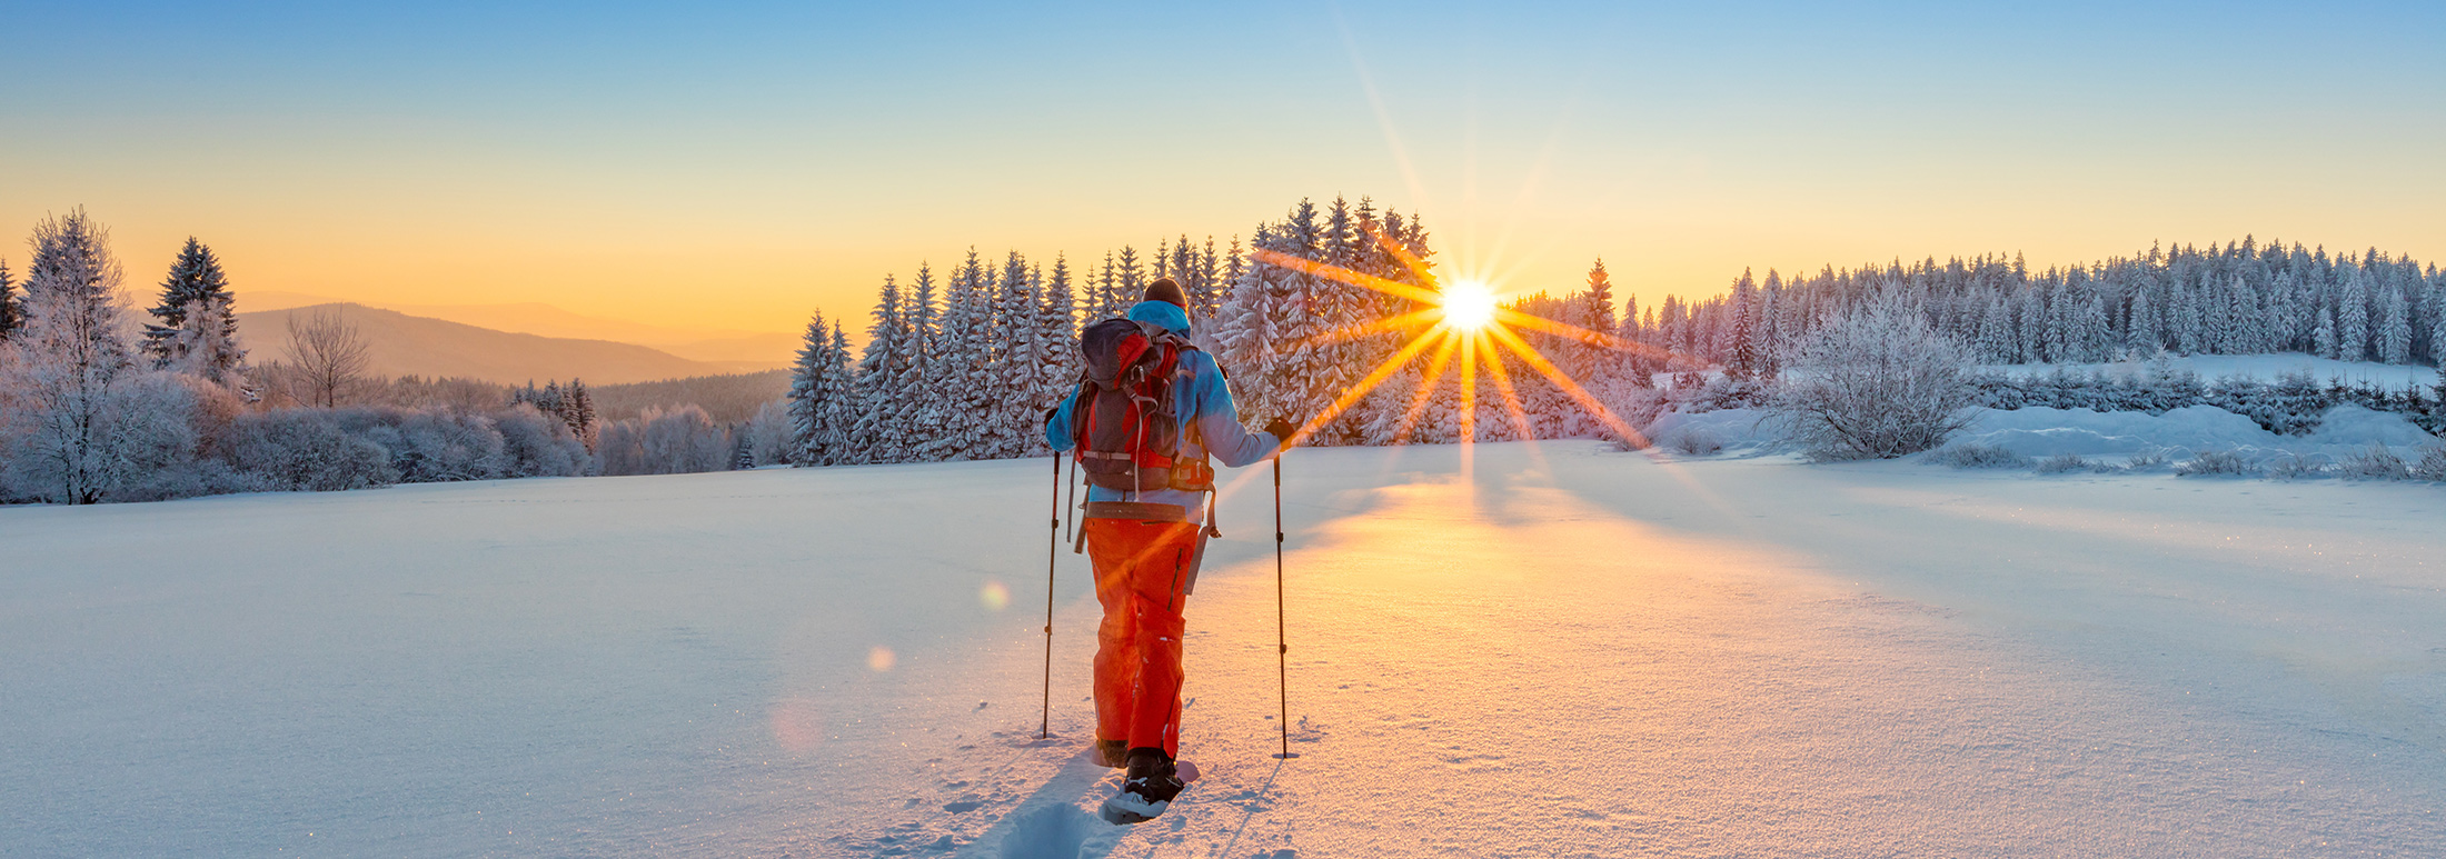
[[[929,267],[920,267],[907,284],[885,277],[856,355],[849,321],[817,313],[807,325],[790,384],[793,463],[1042,455],[1037,428],[1044,409],[1076,377],[1074,333],[1125,311],[1155,277],[1174,277],[1191,294],[1196,343],[1230,374],[1243,418],[1318,416],[1402,345],[1399,330],[1370,330],[1370,323],[1416,311],[1416,301],[1269,264],[1262,252],[1409,286],[1428,286],[1428,279],[1399,257],[1433,259],[1416,218],[1340,198],[1326,206],[1301,201],[1282,220],[1260,225],[1247,252],[1230,240],[1233,252],[1218,259],[1213,247],[1206,240],[1191,252],[1181,237],[1167,242],[1152,267],[1123,247],[1076,277],[1062,257],[1047,269],[1018,252],[1003,262],[969,252],[949,277]],[[1641,306],[1624,294],[1619,308],[1600,259],[1585,284],[1561,296],[1517,296],[1509,306],[1585,330],[1519,330],[1519,338],[1595,401],[1639,423],[1658,409],[1764,401],[1810,333],[1869,303],[1920,316],[1989,365],[2248,352],[2407,365],[2446,355],[2446,277],[2436,267],[2378,250],[2329,255],[2250,237],[2045,272],[1993,255],[1825,267],[1790,279],[1744,272],[1712,299],[1666,296]],[[1658,392],[1661,374],[1678,377],[1680,389]],[[2064,389],[2069,382],[2055,377],[2047,384]],[[2211,394],[2197,379],[2189,384],[2197,396],[2179,389],[2165,396],[2201,401]],[[1477,387],[1475,401],[1463,404],[1458,372],[1438,374],[1431,360],[1406,362],[1323,423],[1311,443],[1458,441],[1465,426],[1477,441],[1607,433],[1607,423],[1575,396],[1502,352],[1485,360]],[[2025,387],[1993,377],[1981,382],[1981,396],[2013,406],[2038,396]],[[2130,399],[2113,392],[2106,377],[2094,387],[2101,404]],[[1428,394],[1421,396],[1421,389]],[[2241,382],[2219,392],[2228,392],[2226,401],[2258,401]],[[2424,421],[2434,404],[2419,394],[2390,401],[2387,394],[2341,384],[2324,392],[2319,401],[2326,404],[2419,409]],[[2042,399],[2082,396],[2057,392]]]

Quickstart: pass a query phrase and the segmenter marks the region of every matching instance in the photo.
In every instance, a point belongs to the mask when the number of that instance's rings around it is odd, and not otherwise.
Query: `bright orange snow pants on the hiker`
[[[1181,751],[1181,607],[1199,563],[1186,521],[1086,519],[1096,563],[1096,739]]]

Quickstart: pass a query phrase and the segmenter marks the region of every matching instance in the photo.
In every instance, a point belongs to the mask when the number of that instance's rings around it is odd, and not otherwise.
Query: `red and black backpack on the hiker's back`
[[[1206,458],[1181,458],[1181,416],[1172,384],[1189,374],[1181,352],[1196,352],[1164,325],[1108,318],[1079,333],[1086,370],[1071,406],[1074,458],[1086,482],[1120,492],[1213,489]]]

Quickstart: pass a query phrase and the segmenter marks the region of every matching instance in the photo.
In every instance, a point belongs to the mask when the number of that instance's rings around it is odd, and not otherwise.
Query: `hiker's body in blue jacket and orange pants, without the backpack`
[[[1177,338],[1189,335],[1186,301],[1172,279],[1147,286],[1147,301],[1132,306],[1128,318]],[[1282,418],[1262,433],[1247,431],[1233,406],[1230,382],[1211,355],[1186,340],[1157,348],[1177,350],[1174,374],[1157,379],[1169,384],[1174,450],[1086,450],[1086,436],[1093,436],[1086,416],[1096,406],[1081,396],[1096,389],[1093,382],[1081,382],[1044,423],[1044,441],[1054,450],[1106,460],[1125,455],[1132,465],[1162,463],[1159,475],[1130,470],[1118,485],[1091,485],[1081,526],[1096,565],[1096,600],[1103,602],[1096,636],[1096,754],[1106,766],[1128,768],[1120,795],[1106,803],[1113,822],[1150,820],[1181,790],[1174,776],[1186,627],[1181,609],[1211,534],[1201,526],[1213,492],[1213,470],[1203,463],[1213,455],[1228,467],[1252,465],[1282,450],[1294,433]]]

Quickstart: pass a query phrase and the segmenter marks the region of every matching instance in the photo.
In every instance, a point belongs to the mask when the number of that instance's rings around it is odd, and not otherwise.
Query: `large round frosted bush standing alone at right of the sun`
[[[1967,372],[1959,343],[1886,299],[1803,340],[1773,409],[1812,460],[1898,458],[1969,423]]]

